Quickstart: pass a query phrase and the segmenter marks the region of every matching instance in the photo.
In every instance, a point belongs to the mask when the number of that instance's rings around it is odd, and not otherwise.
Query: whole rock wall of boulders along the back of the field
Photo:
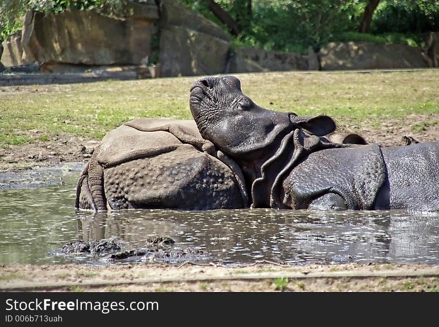
[[[157,34],[157,32],[159,34]],[[153,42],[153,37],[160,41]],[[28,12],[21,31],[3,43],[6,67],[35,64],[40,72],[84,72],[110,66],[159,63],[151,76],[213,75],[285,70],[436,67],[439,33],[426,35],[428,48],[369,42],[328,43],[308,55],[241,47],[230,36],[177,0],[129,2],[119,17],[94,11],[45,15]],[[153,48],[153,46],[160,48]]]

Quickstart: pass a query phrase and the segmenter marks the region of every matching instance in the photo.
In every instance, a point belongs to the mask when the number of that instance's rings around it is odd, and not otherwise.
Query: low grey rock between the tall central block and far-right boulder
[[[258,71],[308,70],[308,58],[293,52],[259,48],[236,49],[228,63],[230,73]]]

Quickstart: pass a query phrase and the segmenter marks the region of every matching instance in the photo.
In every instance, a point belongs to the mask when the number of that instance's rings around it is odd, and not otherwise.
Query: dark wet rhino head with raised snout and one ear
[[[300,117],[264,109],[241,91],[234,76],[206,77],[191,88],[190,107],[201,135],[233,158],[266,158],[275,144],[302,128],[323,136],[336,129],[327,116]]]

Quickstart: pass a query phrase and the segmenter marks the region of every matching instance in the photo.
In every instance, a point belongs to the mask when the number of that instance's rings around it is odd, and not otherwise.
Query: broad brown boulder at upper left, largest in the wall
[[[23,24],[23,62],[139,64],[151,55],[151,36],[158,17],[157,6],[145,6],[150,15],[144,12],[142,17],[126,19],[94,11],[68,10],[47,15],[29,11]]]

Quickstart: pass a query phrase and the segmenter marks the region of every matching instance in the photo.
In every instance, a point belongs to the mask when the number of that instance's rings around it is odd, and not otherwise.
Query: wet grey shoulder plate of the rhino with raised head
[[[305,209],[314,199],[334,193],[347,209],[372,209],[384,182],[378,145],[320,150],[306,156],[284,180],[284,204]]]

